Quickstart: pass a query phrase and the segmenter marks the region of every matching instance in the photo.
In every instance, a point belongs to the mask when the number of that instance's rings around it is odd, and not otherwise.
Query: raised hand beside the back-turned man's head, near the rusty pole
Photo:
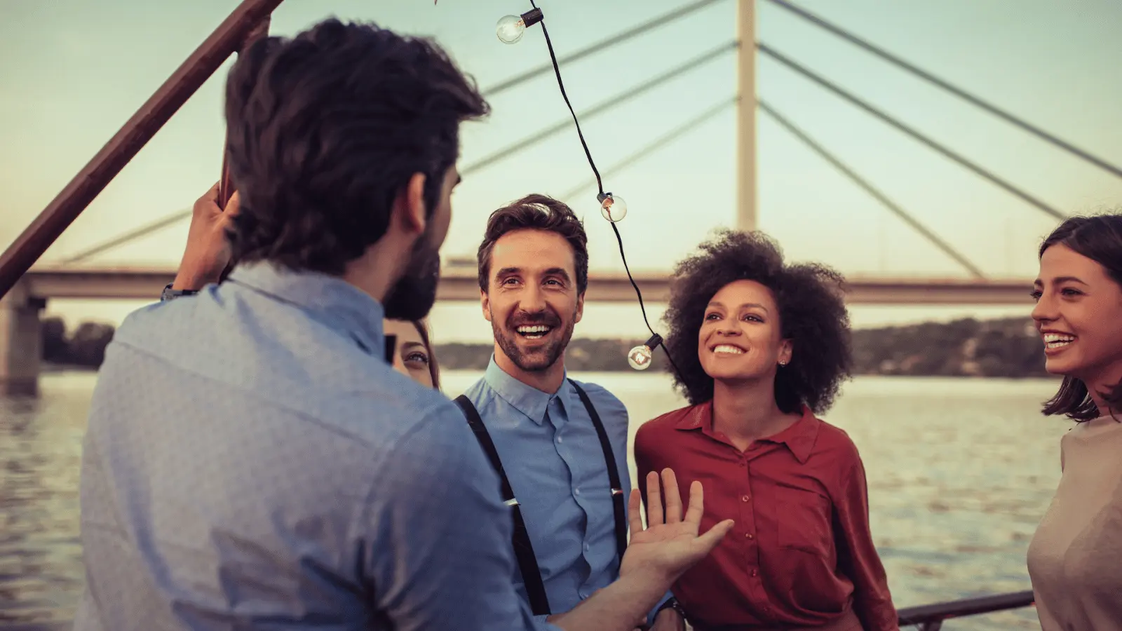
[[[180,271],[173,287],[199,290],[208,283],[217,283],[230,263],[230,243],[226,228],[230,219],[238,214],[239,200],[234,192],[226,209],[218,205],[218,184],[199,198],[191,212],[191,228],[187,230],[187,246],[183,250]]]

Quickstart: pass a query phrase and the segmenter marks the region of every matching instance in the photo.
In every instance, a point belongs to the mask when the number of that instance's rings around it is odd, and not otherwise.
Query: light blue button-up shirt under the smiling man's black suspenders
[[[577,383],[604,423],[626,499],[632,488],[627,409],[607,390]],[[518,499],[550,611],[570,611],[619,577],[611,484],[592,419],[568,379],[549,394],[506,374],[494,356],[465,395],[479,411]],[[514,577],[528,606],[517,567]],[[534,618],[540,629],[548,628],[544,615]]]

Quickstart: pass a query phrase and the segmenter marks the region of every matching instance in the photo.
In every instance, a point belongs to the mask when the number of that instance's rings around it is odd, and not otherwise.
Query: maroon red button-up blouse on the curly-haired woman
[[[865,631],[895,631],[896,612],[868,530],[865,468],[845,431],[803,410],[741,451],[712,429],[712,403],[675,410],[635,436],[638,484],[671,468],[682,500],[705,487],[701,531],[736,525],[673,593],[700,628],[816,627],[853,609]]]

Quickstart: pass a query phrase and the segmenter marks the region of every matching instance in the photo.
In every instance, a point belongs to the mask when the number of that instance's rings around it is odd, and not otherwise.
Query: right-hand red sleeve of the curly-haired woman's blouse
[[[898,631],[896,610],[889,592],[884,565],[873,545],[868,527],[868,488],[865,466],[853,447],[848,470],[843,473],[839,497],[835,502],[840,532],[838,565],[854,585],[854,613],[865,631]]]

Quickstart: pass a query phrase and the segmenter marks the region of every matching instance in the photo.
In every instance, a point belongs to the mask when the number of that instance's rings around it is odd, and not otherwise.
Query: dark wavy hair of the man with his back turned
[[[339,275],[378,241],[396,195],[425,177],[430,214],[484,98],[433,42],[329,19],[257,42],[226,85],[240,198],[233,259]]]

